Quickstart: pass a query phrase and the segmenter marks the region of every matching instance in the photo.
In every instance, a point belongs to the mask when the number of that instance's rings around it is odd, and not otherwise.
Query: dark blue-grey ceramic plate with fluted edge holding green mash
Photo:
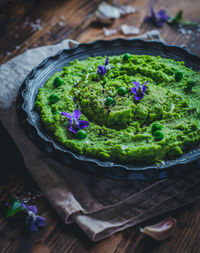
[[[180,175],[190,163],[200,158],[200,145],[176,160],[166,160],[160,165],[126,165],[104,162],[94,158],[77,155],[56,143],[39,121],[34,110],[38,88],[42,87],[55,72],[75,59],[83,60],[88,56],[120,55],[124,53],[160,55],[184,61],[186,66],[200,71],[200,58],[178,46],[169,46],[161,42],[146,42],[138,39],[98,40],[91,44],[80,44],[73,49],[64,49],[55,56],[48,57],[26,77],[17,99],[17,114],[25,133],[34,144],[52,158],[67,166],[117,179],[160,179],[171,175]]]

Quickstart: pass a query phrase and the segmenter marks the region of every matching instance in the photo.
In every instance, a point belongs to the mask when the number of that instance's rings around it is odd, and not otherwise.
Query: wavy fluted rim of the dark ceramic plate
[[[67,153],[67,154],[73,156],[74,159],[79,160],[81,162],[95,163],[98,167],[105,167],[105,168],[116,168],[116,167],[118,167],[118,168],[125,169],[125,170],[128,170],[128,171],[140,171],[140,172],[145,171],[145,170],[152,170],[152,169],[153,170],[163,170],[163,169],[168,169],[168,168],[170,168],[172,166],[176,166],[176,165],[186,165],[186,164],[188,164],[192,161],[200,159],[200,152],[199,152],[195,157],[193,157],[192,159],[190,158],[188,161],[187,160],[182,160],[181,158],[179,158],[179,159],[175,159],[174,161],[176,161],[176,162],[173,163],[173,160],[170,160],[170,161],[172,161],[172,164],[168,165],[168,166],[166,166],[166,164],[165,165],[160,165],[160,164],[155,165],[155,164],[153,164],[153,165],[145,165],[145,167],[143,167],[143,166],[138,167],[137,165],[136,166],[135,165],[124,165],[124,164],[120,164],[120,163],[112,162],[112,161],[101,161],[97,158],[87,157],[87,156],[84,156],[84,155],[78,155],[78,154],[74,153],[73,151],[66,150],[66,149],[63,149],[63,148],[59,147],[59,145],[56,143],[56,141],[54,142],[52,140],[44,138],[43,135],[41,136],[40,130],[34,124],[32,124],[32,122],[30,122],[28,120],[29,112],[27,112],[26,107],[24,106],[25,102],[26,102],[25,94],[26,94],[26,90],[28,88],[27,83],[28,83],[29,79],[34,78],[35,73],[37,71],[41,70],[47,64],[48,61],[56,60],[63,53],[70,54],[70,53],[72,53],[74,51],[77,51],[81,48],[92,47],[92,46],[94,46],[96,44],[99,44],[99,43],[100,44],[102,44],[102,43],[112,44],[112,43],[115,43],[116,41],[120,41],[122,43],[139,42],[139,43],[144,43],[144,44],[159,44],[162,47],[164,47],[164,48],[167,47],[170,50],[179,50],[179,51],[183,52],[184,54],[189,55],[190,57],[195,59],[195,61],[200,63],[200,58],[197,55],[192,54],[188,49],[182,48],[181,46],[177,46],[177,45],[168,45],[168,44],[166,44],[164,42],[161,42],[161,41],[158,41],[158,40],[145,41],[145,40],[142,40],[142,39],[123,39],[123,38],[116,38],[116,39],[113,39],[113,40],[100,39],[100,40],[95,40],[91,43],[80,43],[80,44],[76,45],[73,48],[62,49],[62,50],[58,51],[55,55],[45,58],[40,64],[38,64],[36,67],[34,67],[31,70],[31,72],[27,75],[27,77],[25,78],[24,82],[22,83],[22,85],[21,85],[21,87],[18,91],[17,105],[16,105],[17,115],[18,115],[20,125],[24,129],[26,135],[28,135],[28,137],[36,145],[36,143],[34,141],[35,133],[33,134],[33,136],[30,136],[30,133],[28,133],[28,131],[26,130],[26,127],[31,127],[36,131],[37,135],[41,138],[41,140],[45,142],[45,145],[47,145],[47,146],[49,145],[50,150],[47,151],[47,153],[51,154],[52,153],[52,148],[53,148],[55,150],[65,152],[65,154]],[[22,115],[24,115],[24,117],[22,117]],[[38,147],[38,145],[36,145],[36,146]],[[42,151],[45,152],[46,150],[45,151],[42,150]]]

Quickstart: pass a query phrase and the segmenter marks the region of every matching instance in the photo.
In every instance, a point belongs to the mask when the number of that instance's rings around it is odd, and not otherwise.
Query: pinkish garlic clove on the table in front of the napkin
[[[155,240],[162,241],[174,233],[176,225],[176,219],[169,217],[157,224],[140,228],[140,232],[154,238]]]

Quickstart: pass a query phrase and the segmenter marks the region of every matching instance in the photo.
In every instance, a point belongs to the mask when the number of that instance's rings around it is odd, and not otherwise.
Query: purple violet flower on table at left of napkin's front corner
[[[42,216],[37,215],[36,206],[28,206],[24,203],[21,203],[21,205],[27,211],[27,217],[25,222],[30,226],[30,230],[32,232],[36,232],[39,228],[44,227],[46,225],[46,219]]]

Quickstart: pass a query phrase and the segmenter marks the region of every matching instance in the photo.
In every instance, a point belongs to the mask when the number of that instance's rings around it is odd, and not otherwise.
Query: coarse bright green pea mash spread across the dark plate
[[[174,159],[200,142],[198,72],[159,56],[121,55],[109,57],[112,68],[100,77],[97,67],[105,59],[70,62],[39,89],[35,109],[57,142],[77,154],[122,163]],[[130,90],[132,81],[149,81],[140,101]],[[114,102],[105,102],[108,97]],[[77,108],[80,119],[90,122],[84,139],[70,132],[68,118],[60,115]],[[162,126],[161,140],[154,136],[155,122]]]

